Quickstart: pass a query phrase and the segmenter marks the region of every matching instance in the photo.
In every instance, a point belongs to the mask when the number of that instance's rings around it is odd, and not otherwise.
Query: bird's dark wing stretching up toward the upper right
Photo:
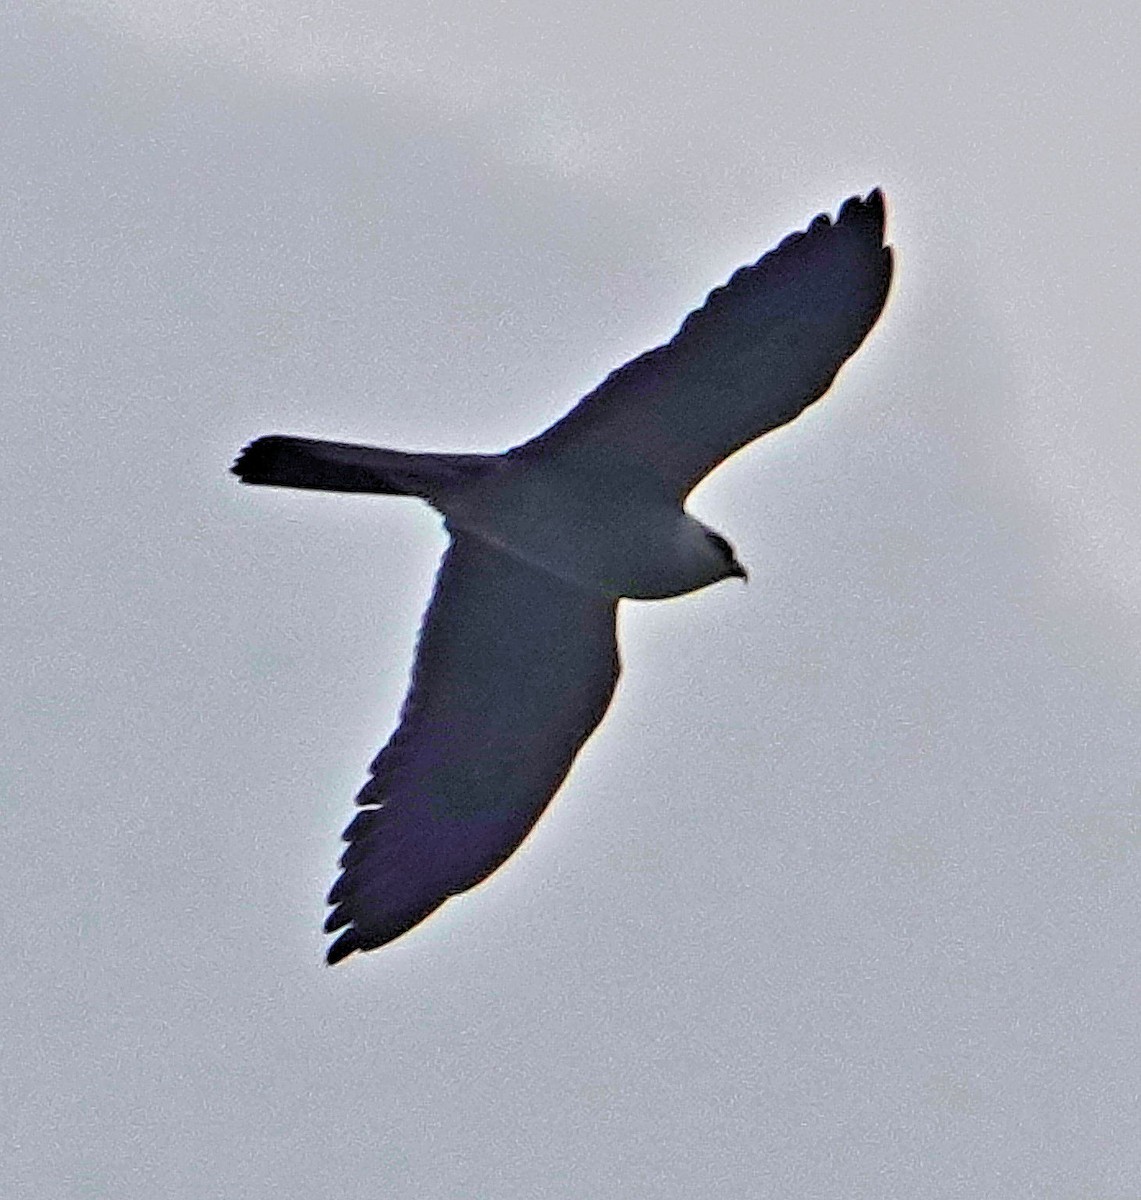
[[[828,390],[891,283],[883,196],[853,196],[743,266],[673,341],[627,362],[512,454],[645,468],[686,496],[717,463]]]

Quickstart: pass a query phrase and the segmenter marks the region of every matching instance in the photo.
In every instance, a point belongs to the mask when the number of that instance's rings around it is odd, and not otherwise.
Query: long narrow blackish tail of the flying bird
[[[403,454],[379,446],[272,433],[251,442],[230,470],[244,484],[307,487],[318,492],[372,492],[434,499],[478,474],[494,456]]]

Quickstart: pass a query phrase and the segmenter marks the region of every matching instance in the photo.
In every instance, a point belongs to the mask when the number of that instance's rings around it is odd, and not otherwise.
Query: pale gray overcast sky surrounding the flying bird
[[[1136,6],[548,7],[0,16],[5,1194],[1135,1200]],[[234,452],[503,448],[876,184],[752,583],[324,968],[443,536]]]

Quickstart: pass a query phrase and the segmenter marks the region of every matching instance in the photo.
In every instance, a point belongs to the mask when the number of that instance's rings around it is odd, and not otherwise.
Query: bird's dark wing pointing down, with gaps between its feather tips
[[[527,836],[618,682],[615,604],[458,533],[401,724],[372,763],[329,893],[337,962],[424,920]]]

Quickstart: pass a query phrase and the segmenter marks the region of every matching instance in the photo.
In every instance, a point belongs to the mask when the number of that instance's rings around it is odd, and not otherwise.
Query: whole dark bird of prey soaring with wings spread
[[[619,600],[745,577],[685,499],[855,353],[891,283],[883,227],[878,188],[817,216],[504,454],[281,434],[242,450],[245,484],[415,496],[451,539],[400,725],[343,834],[330,964],[408,932],[520,846],[609,707]]]

